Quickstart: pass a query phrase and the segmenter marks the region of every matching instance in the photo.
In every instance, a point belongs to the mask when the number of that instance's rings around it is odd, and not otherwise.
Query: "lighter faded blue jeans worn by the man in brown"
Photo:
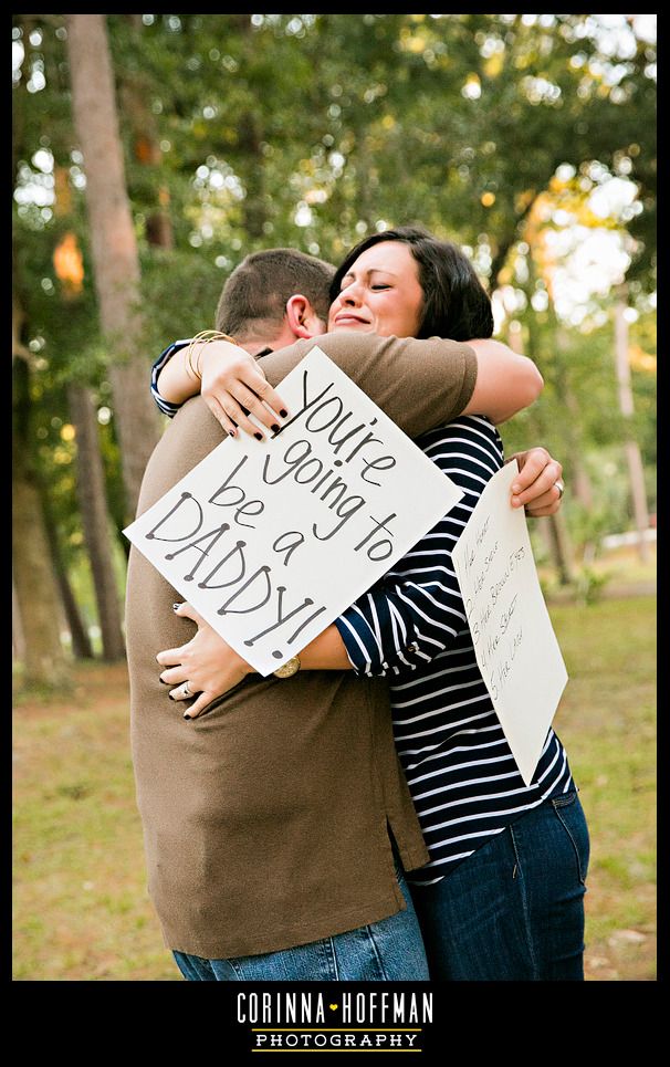
[[[404,876],[406,911],[322,941],[229,960],[174,952],[189,982],[428,982],[421,931]]]

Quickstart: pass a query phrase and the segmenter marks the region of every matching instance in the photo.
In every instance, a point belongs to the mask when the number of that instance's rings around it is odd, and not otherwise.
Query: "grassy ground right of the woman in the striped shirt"
[[[656,599],[553,606],[556,718],[589,822],[587,977],[656,977]]]

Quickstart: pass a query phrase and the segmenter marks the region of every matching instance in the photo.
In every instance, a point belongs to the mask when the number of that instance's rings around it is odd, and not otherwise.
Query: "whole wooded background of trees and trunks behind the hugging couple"
[[[502,433],[564,464],[549,603],[648,592],[655,15],[14,14],[12,79],[19,712],[123,665],[149,368],[260,248],[460,243],[546,383]]]

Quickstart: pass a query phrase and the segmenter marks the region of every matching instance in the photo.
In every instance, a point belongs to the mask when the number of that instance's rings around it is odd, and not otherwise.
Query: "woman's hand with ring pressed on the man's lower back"
[[[175,615],[192,619],[198,631],[180,648],[158,652],[156,659],[160,666],[169,668],[163,671],[160,681],[178,686],[169,692],[172,700],[189,700],[200,693],[184,714],[185,719],[197,719],[216,697],[223,695],[252,673],[253,667],[238,656],[190,604],[178,604]],[[182,683],[188,683],[186,692]]]

